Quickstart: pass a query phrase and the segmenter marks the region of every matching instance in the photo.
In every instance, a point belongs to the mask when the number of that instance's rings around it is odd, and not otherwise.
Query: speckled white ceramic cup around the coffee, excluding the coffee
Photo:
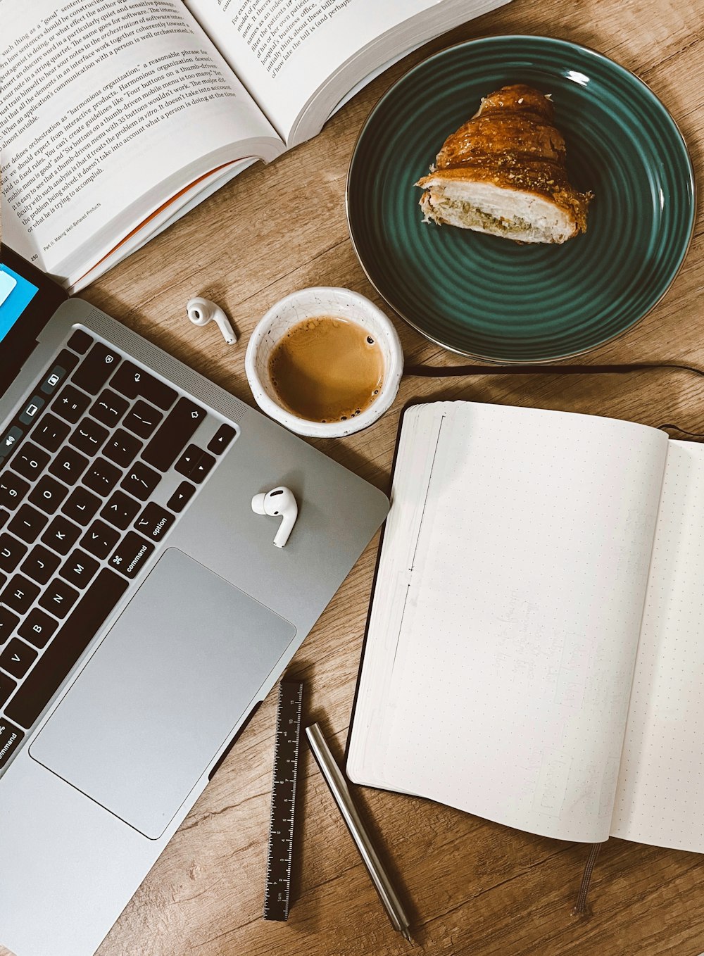
[[[384,356],[384,381],[379,395],[360,415],[344,422],[309,422],[299,418],[281,405],[269,375],[269,359],[275,345],[292,326],[316,315],[339,315],[357,322],[374,337]],[[287,295],[264,315],[247,345],[245,371],[254,401],[276,422],[295,431],[297,435],[341,438],[362,431],[384,415],[399,390],[404,371],[404,353],[390,319],[373,302],[349,289],[316,286]]]

